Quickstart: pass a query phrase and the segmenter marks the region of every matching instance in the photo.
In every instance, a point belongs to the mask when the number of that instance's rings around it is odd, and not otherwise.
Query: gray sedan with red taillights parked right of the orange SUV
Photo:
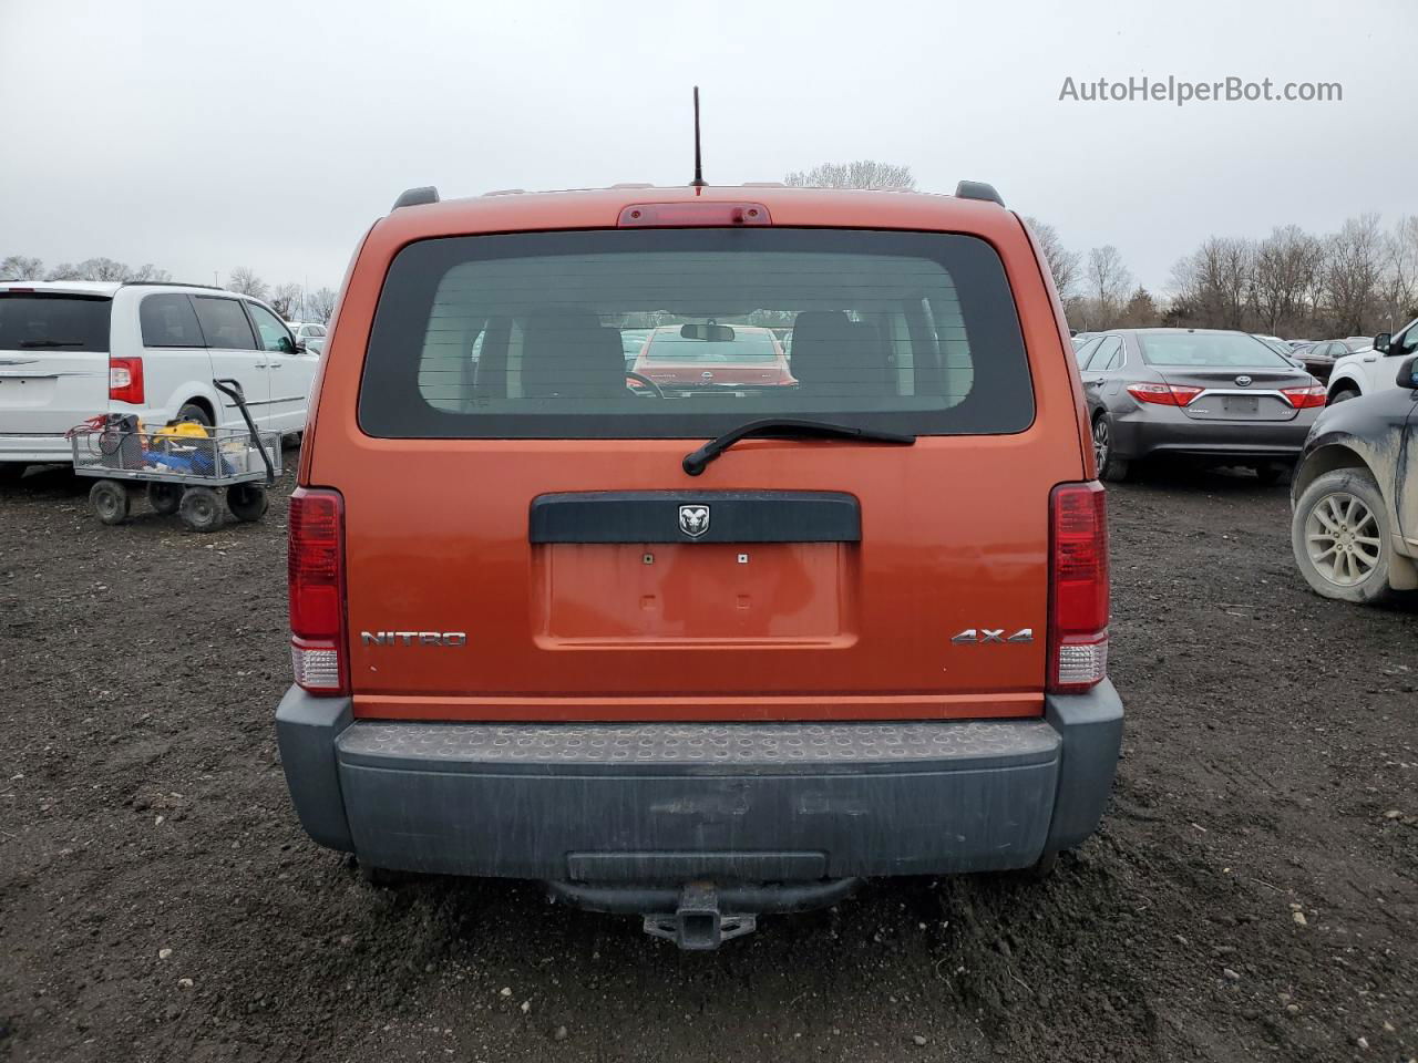
[[[1150,458],[1289,469],[1324,386],[1255,336],[1219,329],[1116,329],[1076,351],[1099,476]]]

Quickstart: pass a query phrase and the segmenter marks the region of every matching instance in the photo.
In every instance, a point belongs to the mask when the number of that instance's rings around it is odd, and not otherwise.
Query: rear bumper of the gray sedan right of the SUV
[[[1149,407],[1113,414],[1113,446],[1127,459],[1164,455],[1218,461],[1293,461],[1305,446],[1317,408],[1300,410],[1289,421],[1201,421],[1181,410]]]

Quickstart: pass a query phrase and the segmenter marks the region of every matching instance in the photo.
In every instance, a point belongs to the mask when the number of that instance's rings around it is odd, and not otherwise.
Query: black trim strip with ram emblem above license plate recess
[[[682,507],[706,507],[688,514]],[[703,529],[691,534],[685,527]],[[837,490],[604,490],[539,495],[533,543],[859,543],[862,512]]]

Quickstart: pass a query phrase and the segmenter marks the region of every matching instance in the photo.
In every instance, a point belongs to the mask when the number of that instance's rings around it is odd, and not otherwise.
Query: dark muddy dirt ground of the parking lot
[[[1051,880],[700,955],[533,883],[363,884],[275,747],[285,492],[199,536],[85,488],[0,488],[0,1057],[1418,1056],[1418,608],[1310,594],[1285,488],[1112,490],[1124,760]]]

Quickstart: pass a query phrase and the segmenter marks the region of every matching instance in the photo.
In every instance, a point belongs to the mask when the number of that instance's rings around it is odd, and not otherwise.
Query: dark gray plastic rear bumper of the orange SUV
[[[354,721],[292,687],[277,733],[320,845],[377,867],[584,883],[1027,867],[1098,826],[1110,683],[1044,719],[900,724]]]

